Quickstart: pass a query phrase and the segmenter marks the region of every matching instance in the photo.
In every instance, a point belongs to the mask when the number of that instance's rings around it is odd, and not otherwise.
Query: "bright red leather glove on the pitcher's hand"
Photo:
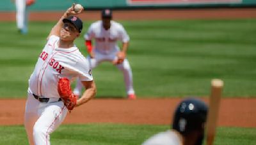
[[[72,110],[76,106],[77,98],[72,92],[69,79],[60,78],[58,82],[58,92],[67,109]]]

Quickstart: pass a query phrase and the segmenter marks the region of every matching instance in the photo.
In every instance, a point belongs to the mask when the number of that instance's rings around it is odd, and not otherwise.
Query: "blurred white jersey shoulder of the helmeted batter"
[[[176,132],[167,130],[150,137],[142,145],[182,145],[182,141]]]

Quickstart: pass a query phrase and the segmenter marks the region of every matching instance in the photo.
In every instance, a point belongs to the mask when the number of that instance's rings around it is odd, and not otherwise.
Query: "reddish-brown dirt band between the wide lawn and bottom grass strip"
[[[169,125],[178,98],[93,99],[68,113],[64,123],[125,123]],[[203,99],[208,103],[208,99]],[[0,125],[22,125],[25,99],[0,100]],[[222,99],[218,125],[256,127],[256,99]],[[12,106],[12,107],[11,107]]]

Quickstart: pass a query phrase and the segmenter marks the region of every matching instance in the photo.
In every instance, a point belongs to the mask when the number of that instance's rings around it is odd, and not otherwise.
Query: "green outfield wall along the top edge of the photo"
[[[14,0],[13,0],[14,1]],[[80,3],[89,10],[100,8],[200,8],[200,7],[243,7],[255,6],[256,0],[36,0],[30,10],[65,10],[71,3]],[[14,11],[12,0],[1,0],[0,11]]]

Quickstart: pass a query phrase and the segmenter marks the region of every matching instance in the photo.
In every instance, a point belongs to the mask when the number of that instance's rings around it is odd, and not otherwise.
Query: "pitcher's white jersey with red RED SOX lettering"
[[[49,38],[30,76],[28,91],[40,97],[59,98],[58,81],[63,77],[70,81],[77,77],[81,81],[93,80],[88,60],[78,48],[59,48],[59,40],[58,36]]]

